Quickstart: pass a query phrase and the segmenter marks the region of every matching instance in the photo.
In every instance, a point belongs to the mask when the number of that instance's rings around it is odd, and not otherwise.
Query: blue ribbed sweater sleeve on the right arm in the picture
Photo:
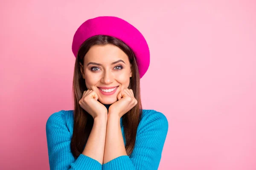
[[[102,170],[157,170],[168,132],[163,113],[151,110],[139,125],[140,129],[130,156],[119,156],[102,165]],[[138,128],[139,128],[138,127]]]

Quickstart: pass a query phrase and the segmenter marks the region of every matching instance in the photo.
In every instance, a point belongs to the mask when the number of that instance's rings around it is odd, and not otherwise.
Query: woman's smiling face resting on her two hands
[[[112,44],[93,45],[80,68],[86,87],[96,91],[103,104],[116,102],[117,94],[128,88],[132,77],[128,56]]]

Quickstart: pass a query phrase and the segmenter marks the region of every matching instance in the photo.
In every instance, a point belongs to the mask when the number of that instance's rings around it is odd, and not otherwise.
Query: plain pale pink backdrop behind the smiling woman
[[[254,0],[1,0],[0,169],[49,169],[46,121],[73,109],[73,34],[102,15],[148,41],[143,108],[169,120],[159,170],[255,170]]]

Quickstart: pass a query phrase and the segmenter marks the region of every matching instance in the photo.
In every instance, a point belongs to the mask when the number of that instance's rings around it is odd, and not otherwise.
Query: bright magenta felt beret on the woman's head
[[[95,35],[108,35],[122,40],[135,54],[140,78],[149,67],[150,54],[148,44],[137,28],[118,17],[96,17],[82,23],[77,29],[72,43],[72,51],[77,57],[82,43]]]

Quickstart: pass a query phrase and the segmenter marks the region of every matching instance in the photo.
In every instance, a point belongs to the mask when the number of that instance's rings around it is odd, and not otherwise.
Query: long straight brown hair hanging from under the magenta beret
[[[81,45],[76,57],[74,68],[74,127],[73,136],[71,139],[71,151],[75,158],[77,158],[83,152],[84,146],[93,127],[93,117],[79,105],[79,100],[82,98],[84,91],[87,90],[85,80],[81,74],[80,64],[84,64],[84,56],[89,51],[90,47],[93,45],[105,44],[113,44],[118,46],[128,56],[131,64],[132,77],[130,78],[130,84],[128,88],[134,91],[134,97],[137,99],[137,105],[122,116],[122,124],[124,126],[126,143],[125,150],[127,155],[131,155],[134,149],[137,127],[140,123],[142,114],[142,105],[140,99],[140,73],[137,67],[135,55],[131,48],[129,48],[128,45],[126,45],[121,40],[111,36],[97,35],[90,37]]]

